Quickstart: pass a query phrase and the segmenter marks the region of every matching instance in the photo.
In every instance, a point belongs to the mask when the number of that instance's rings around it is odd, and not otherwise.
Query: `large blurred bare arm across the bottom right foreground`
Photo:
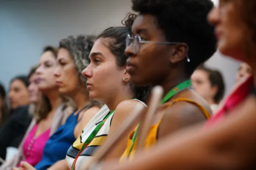
[[[208,129],[189,128],[159,141],[131,162],[104,164],[104,170],[236,170],[255,166],[256,99],[250,97],[227,119]]]

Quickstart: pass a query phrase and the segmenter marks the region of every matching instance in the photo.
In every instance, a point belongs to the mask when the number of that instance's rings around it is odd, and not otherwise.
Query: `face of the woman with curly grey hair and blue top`
[[[56,84],[59,86],[59,92],[71,96],[80,85],[79,74],[76,71],[74,60],[67,49],[60,48],[57,62],[58,66],[54,76],[56,77]]]

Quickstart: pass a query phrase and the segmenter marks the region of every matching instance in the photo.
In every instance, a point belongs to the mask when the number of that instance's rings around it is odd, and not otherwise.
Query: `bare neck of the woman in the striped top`
[[[104,103],[108,106],[110,112],[112,112],[116,109],[119,103],[121,103],[124,100],[132,99],[133,97],[134,95],[130,88],[130,85],[127,84],[123,89],[118,90],[115,95],[108,98],[108,100]]]

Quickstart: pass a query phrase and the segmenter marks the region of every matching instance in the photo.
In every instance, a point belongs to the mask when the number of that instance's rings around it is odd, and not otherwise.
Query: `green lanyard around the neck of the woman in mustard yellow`
[[[175,94],[177,94],[178,92],[188,88],[192,86],[192,83],[191,83],[191,80],[186,80],[180,84],[178,84],[177,86],[173,87],[165,96],[164,98],[160,101],[159,105],[165,103],[166,101],[170,100]],[[141,122],[140,122],[141,123]],[[132,148],[135,144],[135,140],[136,140],[136,136],[137,136],[137,132],[138,132],[138,129],[140,127],[140,123],[139,125],[137,126],[133,136],[132,136],[132,144],[129,148],[129,153],[128,153],[128,156],[130,155],[130,153],[132,152]]]

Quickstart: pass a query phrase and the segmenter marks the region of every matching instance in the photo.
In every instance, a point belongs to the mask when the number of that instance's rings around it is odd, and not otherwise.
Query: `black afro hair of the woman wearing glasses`
[[[207,22],[213,8],[211,0],[132,0],[132,9],[156,17],[166,40],[188,45],[185,69],[188,76],[216,51],[214,28]]]

